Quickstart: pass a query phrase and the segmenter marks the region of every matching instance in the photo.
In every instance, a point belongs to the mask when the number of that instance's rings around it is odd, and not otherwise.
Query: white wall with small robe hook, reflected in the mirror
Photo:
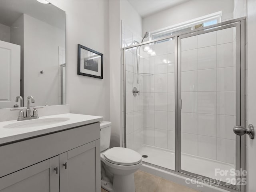
[[[63,30],[24,14],[24,98],[34,96],[35,106],[59,104],[59,46]]]

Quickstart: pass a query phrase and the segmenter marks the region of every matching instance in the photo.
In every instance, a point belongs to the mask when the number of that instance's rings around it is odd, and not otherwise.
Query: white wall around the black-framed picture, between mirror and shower
[[[110,120],[108,1],[50,2],[66,12],[66,97],[70,112]],[[77,75],[77,44],[104,54],[103,79]]]

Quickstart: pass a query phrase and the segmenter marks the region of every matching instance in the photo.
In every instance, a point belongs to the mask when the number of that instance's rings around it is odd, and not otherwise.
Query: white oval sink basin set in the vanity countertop
[[[63,118],[63,117],[33,119],[33,120],[25,120],[25,121],[11,123],[11,124],[8,124],[8,125],[4,126],[3,128],[19,129],[19,128],[39,127],[39,126],[61,123],[61,122],[65,122],[65,121],[68,121],[68,120],[70,120],[70,118]]]

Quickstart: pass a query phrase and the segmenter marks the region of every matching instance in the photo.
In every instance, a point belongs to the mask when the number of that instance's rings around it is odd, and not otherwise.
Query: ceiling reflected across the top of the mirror
[[[36,0],[0,0],[0,23],[11,26],[23,13],[65,30],[66,14],[52,4]]]

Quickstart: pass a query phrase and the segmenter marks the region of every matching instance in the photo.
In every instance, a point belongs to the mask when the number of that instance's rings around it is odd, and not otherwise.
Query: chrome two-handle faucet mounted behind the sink
[[[20,96],[18,96],[17,98],[19,98],[19,97]],[[27,98],[26,116],[24,116],[23,108],[11,109],[11,111],[19,110],[17,121],[30,120],[30,119],[38,119],[39,118],[37,109],[38,108],[43,108],[43,107],[34,107],[33,116],[31,116],[30,100],[31,100],[32,103],[35,102],[35,99],[34,99],[33,96],[28,96],[28,98]]]

